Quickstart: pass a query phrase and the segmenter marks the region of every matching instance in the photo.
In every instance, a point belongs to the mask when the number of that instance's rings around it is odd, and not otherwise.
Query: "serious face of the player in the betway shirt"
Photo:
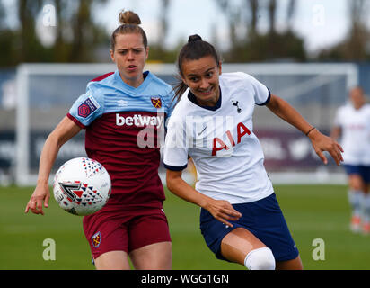
[[[141,34],[119,34],[110,57],[116,63],[119,74],[128,85],[139,86],[144,81],[143,70],[149,48],[144,47]]]

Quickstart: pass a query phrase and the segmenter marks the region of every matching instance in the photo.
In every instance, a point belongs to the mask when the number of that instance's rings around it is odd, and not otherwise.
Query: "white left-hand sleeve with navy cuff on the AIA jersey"
[[[183,124],[170,119],[163,150],[163,165],[172,171],[181,171],[188,166],[188,145]]]

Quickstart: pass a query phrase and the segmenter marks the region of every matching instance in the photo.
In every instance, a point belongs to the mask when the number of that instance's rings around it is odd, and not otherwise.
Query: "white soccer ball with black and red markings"
[[[54,177],[54,198],[59,206],[79,216],[93,214],[110,198],[110,175],[97,161],[78,157],[60,166]]]

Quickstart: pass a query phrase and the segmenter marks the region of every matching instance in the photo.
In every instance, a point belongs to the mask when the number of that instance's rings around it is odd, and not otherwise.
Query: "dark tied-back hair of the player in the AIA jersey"
[[[177,103],[180,101],[181,95],[184,94],[188,89],[188,85],[186,85],[181,79],[183,77],[182,63],[187,60],[198,60],[199,58],[207,56],[212,56],[217,63],[217,67],[219,66],[221,59],[215,47],[213,47],[207,41],[202,40],[198,34],[189,36],[188,43],[182,47],[177,59],[177,68],[179,74],[175,76],[177,83],[173,87],[175,92],[173,100],[176,100]]]

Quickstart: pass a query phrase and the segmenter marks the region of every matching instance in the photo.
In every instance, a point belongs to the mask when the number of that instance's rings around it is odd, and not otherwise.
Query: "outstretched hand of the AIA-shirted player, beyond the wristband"
[[[329,152],[335,163],[340,165],[340,162],[343,161],[342,153],[344,151],[337,141],[323,135],[319,130],[316,129],[313,129],[308,137],[311,139],[311,143],[316,154],[322,159],[322,162],[325,165],[328,164],[328,159],[322,153],[323,151]]]

